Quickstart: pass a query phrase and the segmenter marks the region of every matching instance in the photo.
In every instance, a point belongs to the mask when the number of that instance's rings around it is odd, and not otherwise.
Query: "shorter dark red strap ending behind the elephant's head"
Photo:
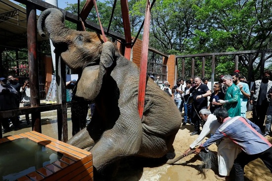
[[[125,33],[125,58],[128,60],[131,59],[131,48],[132,48],[132,38],[131,38],[131,24],[130,24],[130,16],[129,16],[129,4],[128,0],[121,0],[121,12],[123,18],[123,26]]]

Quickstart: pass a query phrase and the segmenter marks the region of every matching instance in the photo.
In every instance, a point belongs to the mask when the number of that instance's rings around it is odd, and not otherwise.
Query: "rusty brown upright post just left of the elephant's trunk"
[[[27,44],[28,44],[28,64],[29,64],[29,85],[31,107],[40,106],[40,86],[39,86],[39,65],[37,48],[37,20],[34,4],[27,4]],[[42,133],[41,112],[31,114],[32,129]]]

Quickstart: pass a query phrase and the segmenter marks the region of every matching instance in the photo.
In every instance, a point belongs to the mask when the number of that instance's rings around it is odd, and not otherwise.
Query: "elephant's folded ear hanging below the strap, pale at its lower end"
[[[111,42],[104,43],[99,65],[92,65],[83,69],[77,85],[76,96],[93,100],[98,95],[104,75],[108,68],[116,61],[114,54],[115,46]]]

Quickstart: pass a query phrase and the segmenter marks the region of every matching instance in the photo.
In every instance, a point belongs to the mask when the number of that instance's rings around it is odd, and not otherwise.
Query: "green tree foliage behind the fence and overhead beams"
[[[80,1],[82,9],[86,0]],[[97,1],[102,25],[109,26],[114,0]],[[66,10],[77,14],[77,4]],[[132,35],[136,36],[144,19],[146,0],[130,0]],[[156,0],[151,9],[149,45],[166,54],[268,49],[272,46],[272,0]],[[88,19],[97,23],[95,9]],[[66,23],[76,29],[76,25]],[[110,30],[124,34],[120,0],[116,3]],[[141,38],[142,31],[139,36]],[[268,55],[269,59],[272,55]],[[196,58],[195,75],[201,74],[201,60]],[[239,56],[239,70],[247,73],[248,57]],[[260,67],[260,56],[254,56]],[[185,60],[185,74],[190,77],[191,60]],[[181,61],[179,61],[179,77]],[[216,75],[232,73],[234,57],[216,59]],[[205,77],[211,76],[211,57],[206,57]]]

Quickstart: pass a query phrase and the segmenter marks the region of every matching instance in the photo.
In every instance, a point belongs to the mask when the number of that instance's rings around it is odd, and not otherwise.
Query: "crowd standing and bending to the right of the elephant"
[[[254,82],[251,91],[239,70],[220,76],[213,91],[207,87],[207,79],[195,77],[193,82],[188,80],[184,89],[184,80],[178,80],[172,93],[180,112],[184,107],[182,126],[190,120],[189,124],[194,125],[190,135],[199,135],[184,151],[184,156],[197,146],[194,151],[196,154],[202,149],[208,151],[208,146],[216,143],[219,166],[217,179],[229,180],[233,169],[234,180],[244,181],[245,165],[257,158],[263,160],[272,172],[272,144],[264,137],[271,135],[270,77],[271,71],[265,71],[262,79]],[[192,101],[189,101],[190,98]],[[248,103],[253,106],[252,121],[246,118]],[[210,138],[201,144],[206,136]]]

